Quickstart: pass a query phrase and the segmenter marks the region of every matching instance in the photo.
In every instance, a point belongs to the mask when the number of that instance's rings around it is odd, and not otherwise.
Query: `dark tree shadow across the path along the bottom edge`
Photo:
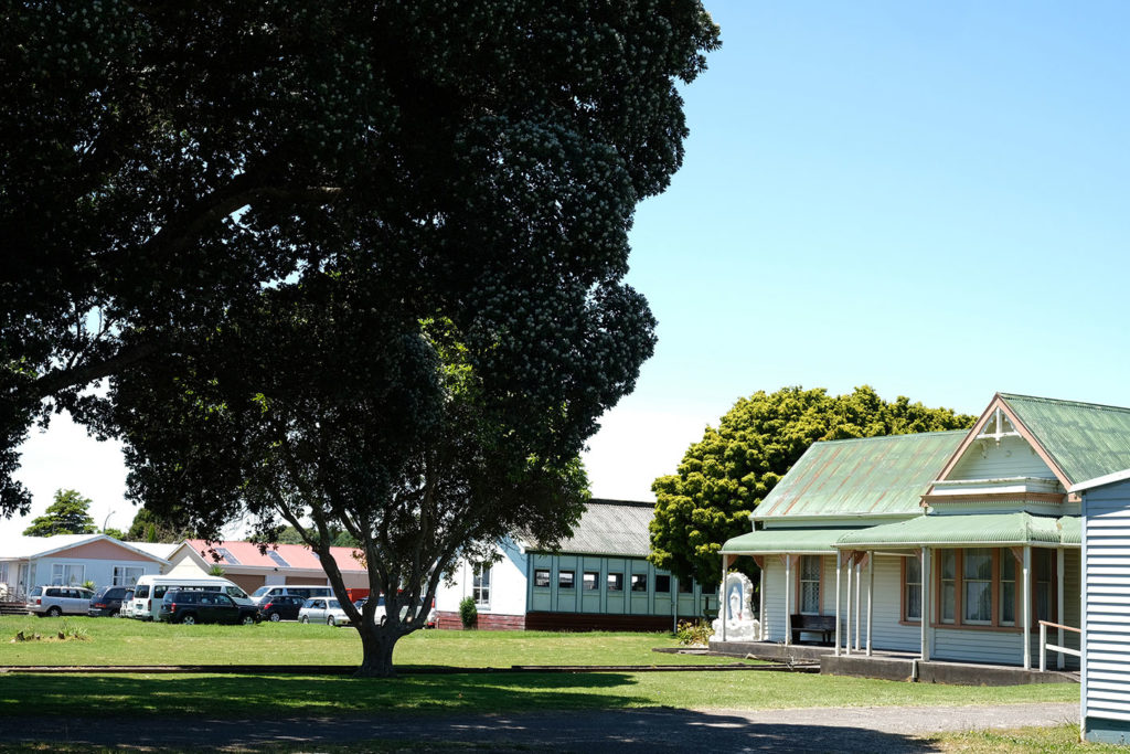
[[[59,721],[63,722],[63,721]],[[191,747],[262,752],[358,751],[559,751],[559,752],[933,752],[911,736],[825,725],[753,722],[744,717],[688,710],[597,710],[518,714],[458,713],[438,718],[377,716],[261,720],[181,720],[151,725],[112,719],[82,725],[67,721],[53,730],[55,751],[87,746],[142,749]],[[167,722],[167,721],[166,721]],[[0,727],[0,748],[34,742]]]

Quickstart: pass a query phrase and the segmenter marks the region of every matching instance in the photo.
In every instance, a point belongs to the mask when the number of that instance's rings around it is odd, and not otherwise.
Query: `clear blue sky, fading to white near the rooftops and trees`
[[[757,390],[1130,406],[1130,3],[705,3],[723,47],[632,234],[659,345],[590,443],[594,495],[652,500]],[[66,422],[19,477],[34,514],[73,487],[132,520],[119,450]]]

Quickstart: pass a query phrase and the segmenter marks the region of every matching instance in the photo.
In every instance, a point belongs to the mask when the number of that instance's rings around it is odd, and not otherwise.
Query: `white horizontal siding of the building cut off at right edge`
[[[1130,482],[1088,491],[1083,529],[1084,714],[1130,720]]]

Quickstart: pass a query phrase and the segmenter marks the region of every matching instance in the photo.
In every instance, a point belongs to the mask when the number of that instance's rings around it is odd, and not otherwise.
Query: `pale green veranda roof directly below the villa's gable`
[[[837,547],[849,549],[1037,544],[1079,544],[1079,520],[1075,517],[1058,519],[1024,512],[918,515],[897,523],[851,531],[836,541]]]

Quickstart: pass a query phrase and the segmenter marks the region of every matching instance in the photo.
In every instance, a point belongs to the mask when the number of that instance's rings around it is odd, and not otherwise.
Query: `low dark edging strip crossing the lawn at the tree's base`
[[[9,673],[145,673],[145,674],[231,674],[231,675],[353,675],[356,666],[345,665],[26,665],[3,666],[0,674]],[[746,665],[512,665],[508,668],[407,667],[398,668],[399,675],[471,675],[485,673],[707,673],[730,670],[785,670],[789,673],[819,673],[816,665],[765,664]]]

